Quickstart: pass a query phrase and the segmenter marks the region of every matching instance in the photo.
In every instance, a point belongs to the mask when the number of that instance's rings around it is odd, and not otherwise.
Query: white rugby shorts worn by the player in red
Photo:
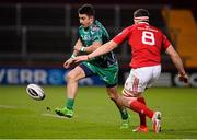
[[[131,96],[131,93],[142,93],[146,88],[150,88],[159,79],[161,65],[131,69],[127,78],[123,94]]]

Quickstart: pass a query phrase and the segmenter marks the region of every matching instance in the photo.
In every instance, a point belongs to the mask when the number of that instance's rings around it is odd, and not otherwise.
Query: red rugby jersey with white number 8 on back
[[[166,36],[148,23],[138,23],[123,30],[113,40],[120,44],[128,40],[131,47],[131,68],[157,66],[161,63],[161,50],[171,45]]]

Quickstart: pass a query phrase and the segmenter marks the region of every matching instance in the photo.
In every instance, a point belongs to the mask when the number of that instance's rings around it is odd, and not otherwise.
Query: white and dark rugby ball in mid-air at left
[[[45,98],[44,90],[37,84],[28,84],[26,86],[26,92],[34,100],[42,101]]]

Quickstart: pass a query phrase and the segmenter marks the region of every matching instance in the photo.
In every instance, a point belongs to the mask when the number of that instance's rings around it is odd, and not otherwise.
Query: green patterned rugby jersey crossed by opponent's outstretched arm
[[[92,45],[94,42],[105,44],[109,40],[107,31],[97,20],[95,20],[89,28],[80,26],[78,34],[84,47]],[[99,67],[107,68],[112,65],[117,65],[117,59],[115,54],[111,51],[106,55],[91,59],[89,62]]]

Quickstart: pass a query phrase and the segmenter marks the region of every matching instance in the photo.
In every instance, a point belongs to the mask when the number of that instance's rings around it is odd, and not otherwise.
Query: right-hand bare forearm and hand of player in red
[[[179,55],[176,52],[176,50],[173,48],[172,45],[170,45],[170,47],[166,49],[166,54],[170,55],[173,63],[175,65],[176,69],[178,70],[179,80],[183,81],[184,83],[188,84],[188,77],[185,73],[182,59],[181,59]]]

